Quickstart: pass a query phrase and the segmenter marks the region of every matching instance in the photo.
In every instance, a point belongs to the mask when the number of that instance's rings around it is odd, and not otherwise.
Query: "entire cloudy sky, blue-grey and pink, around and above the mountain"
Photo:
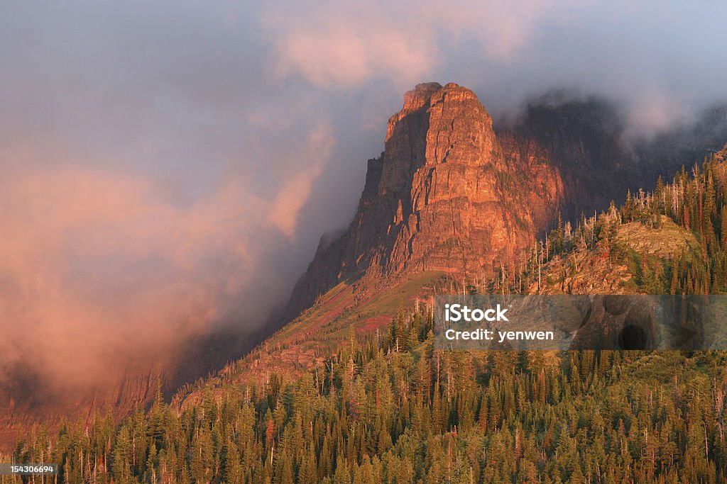
[[[548,89],[650,136],[727,99],[720,1],[4,1],[0,382],[73,385],[285,302],[403,92]],[[95,371],[89,371],[94,368]]]

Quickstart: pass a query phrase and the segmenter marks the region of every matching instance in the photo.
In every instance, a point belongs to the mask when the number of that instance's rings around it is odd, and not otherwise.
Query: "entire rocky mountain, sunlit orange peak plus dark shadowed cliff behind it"
[[[419,84],[390,118],[384,152],[369,160],[356,216],[343,234],[321,239],[289,313],[346,279],[366,292],[413,272],[481,278],[513,266],[558,213],[575,221],[604,210],[719,149],[724,112],[706,113],[712,128],[695,125],[701,137],[675,128],[628,140],[613,104],[555,92],[494,129],[473,91]]]

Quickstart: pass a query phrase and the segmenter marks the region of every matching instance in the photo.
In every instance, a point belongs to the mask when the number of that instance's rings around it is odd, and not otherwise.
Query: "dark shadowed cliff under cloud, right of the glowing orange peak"
[[[566,187],[563,218],[619,205],[640,188],[651,189],[659,176],[672,179],[720,150],[727,141],[727,105],[715,104],[694,122],[676,125],[651,138],[627,134],[619,107],[595,96],[573,97],[550,91],[531,99],[515,119],[495,127],[503,147],[537,146],[557,167]]]

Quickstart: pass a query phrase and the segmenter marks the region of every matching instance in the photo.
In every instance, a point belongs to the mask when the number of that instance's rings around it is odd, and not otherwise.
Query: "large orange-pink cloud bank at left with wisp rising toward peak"
[[[333,142],[325,125],[313,128],[294,147],[301,166],[273,197],[238,174],[189,205],[118,171],[9,168],[0,180],[0,382],[22,363],[51,382],[102,385],[125,362],[150,361],[221,321],[265,321],[297,275],[268,258],[289,246]]]

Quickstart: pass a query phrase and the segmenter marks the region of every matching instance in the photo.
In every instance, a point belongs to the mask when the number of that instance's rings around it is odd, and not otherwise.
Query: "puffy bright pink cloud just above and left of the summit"
[[[377,2],[321,2],[316,8],[270,4],[262,25],[276,48],[273,74],[300,73],[324,87],[356,86],[374,76],[406,82],[430,73],[433,39],[409,36]],[[293,9],[293,11],[292,11]]]

